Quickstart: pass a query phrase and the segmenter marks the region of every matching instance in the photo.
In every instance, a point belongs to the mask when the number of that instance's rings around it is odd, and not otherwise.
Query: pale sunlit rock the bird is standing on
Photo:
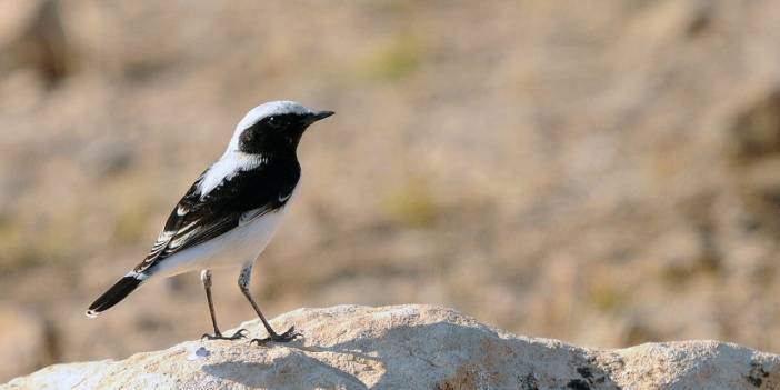
[[[3,389],[776,389],[780,356],[718,341],[597,350],[519,337],[431,306],[299,309],[289,344],[187,341],[57,364]],[[258,321],[241,324],[263,336]]]

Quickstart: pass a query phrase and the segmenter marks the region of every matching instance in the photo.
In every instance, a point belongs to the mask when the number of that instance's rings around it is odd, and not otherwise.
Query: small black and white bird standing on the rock
[[[90,304],[87,316],[119,303],[151,278],[200,270],[213,334],[237,340],[246,329],[222,334],[211,298],[211,270],[240,267],[238,286],[268,332],[258,344],[288,342],[302,334],[294,326],[277,333],[249,291],[252,267],[296,198],[301,178],[297,149],[310,124],[332,116],[294,101],[271,101],[239,121],[224,153],[207,168],[173,207],[143,261]]]

